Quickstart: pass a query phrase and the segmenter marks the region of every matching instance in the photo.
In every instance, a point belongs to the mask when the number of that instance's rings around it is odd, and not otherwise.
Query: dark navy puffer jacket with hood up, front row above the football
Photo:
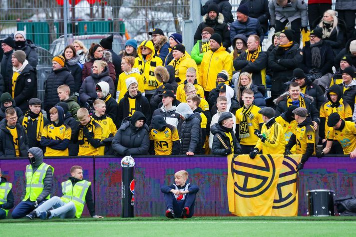
[[[143,127],[135,127],[136,121],[141,119],[145,121]],[[140,111],[136,111],[132,117],[124,119],[112,140],[112,148],[119,156],[146,155],[149,146],[150,139],[146,117]]]

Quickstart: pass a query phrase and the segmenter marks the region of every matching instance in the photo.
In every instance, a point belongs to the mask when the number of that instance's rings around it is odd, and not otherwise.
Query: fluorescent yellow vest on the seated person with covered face
[[[31,165],[26,166],[26,195],[22,201],[26,201],[28,198],[31,202],[36,201],[44,188],[43,180],[48,168],[52,169],[52,174],[54,174],[53,167],[46,163],[42,163],[34,173],[32,173]],[[50,195],[46,197],[46,199],[49,198]]]

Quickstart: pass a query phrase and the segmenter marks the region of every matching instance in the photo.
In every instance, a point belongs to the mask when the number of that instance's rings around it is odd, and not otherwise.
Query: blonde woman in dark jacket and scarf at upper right
[[[337,55],[343,48],[345,24],[340,22],[335,10],[324,12],[323,19],[318,26],[323,28],[323,40],[328,42]]]

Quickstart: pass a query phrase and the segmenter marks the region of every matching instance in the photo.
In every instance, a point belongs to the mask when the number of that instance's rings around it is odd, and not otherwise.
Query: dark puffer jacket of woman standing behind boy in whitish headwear
[[[100,74],[92,73],[84,79],[83,84],[79,90],[79,98],[81,103],[85,103],[88,100],[95,100],[98,96],[96,94],[96,84],[100,81],[105,81],[109,83],[109,92],[111,95],[114,94],[114,81],[109,76],[109,68],[105,67]]]

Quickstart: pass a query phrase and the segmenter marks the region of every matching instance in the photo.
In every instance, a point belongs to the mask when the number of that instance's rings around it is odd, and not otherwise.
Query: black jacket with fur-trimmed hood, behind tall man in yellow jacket
[[[223,39],[222,44],[224,50],[231,46],[230,28],[228,24],[224,22],[224,15],[222,13],[218,13],[218,17],[215,20],[211,20],[208,13],[203,16],[203,21],[198,25],[198,28],[194,34],[194,44],[196,44],[198,40],[202,39],[202,31],[205,27],[212,27],[215,33],[220,34]]]

